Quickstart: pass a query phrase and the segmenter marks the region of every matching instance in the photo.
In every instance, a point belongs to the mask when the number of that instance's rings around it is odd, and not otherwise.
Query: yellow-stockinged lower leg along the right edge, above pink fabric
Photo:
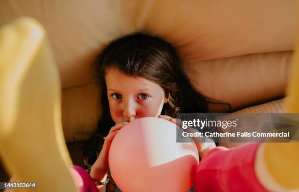
[[[299,113],[299,38],[288,82],[287,96],[285,113]],[[256,154],[257,178],[271,192],[299,190],[298,160],[299,143],[261,144]]]

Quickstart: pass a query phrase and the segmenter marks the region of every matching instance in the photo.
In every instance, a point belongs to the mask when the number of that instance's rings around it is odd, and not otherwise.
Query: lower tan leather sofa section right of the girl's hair
[[[185,69],[205,96],[237,110],[283,97],[292,56],[293,51],[249,54],[195,62]]]

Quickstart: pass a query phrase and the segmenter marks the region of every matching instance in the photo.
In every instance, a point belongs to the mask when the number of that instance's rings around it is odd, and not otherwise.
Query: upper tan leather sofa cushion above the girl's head
[[[46,29],[64,88],[91,82],[90,62],[112,39],[144,31],[185,62],[294,50],[296,0],[6,0],[0,25],[30,16]]]

